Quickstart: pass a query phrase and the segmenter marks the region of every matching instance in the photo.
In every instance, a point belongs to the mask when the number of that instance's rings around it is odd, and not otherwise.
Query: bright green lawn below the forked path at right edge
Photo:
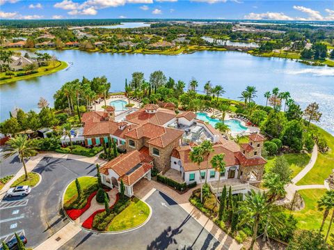
[[[305,208],[301,211],[292,212],[298,220],[297,226],[301,229],[318,230],[321,225],[323,212],[317,209],[317,201],[325,194],[326,189],[305,189],[299,190],[299,194],[303,196]],[[331,215],[331,214],[330,214]],[[324,232],[327,232],[330,216],[327,217]],[[331,233],[334,233],[334,227],[331,228]]]

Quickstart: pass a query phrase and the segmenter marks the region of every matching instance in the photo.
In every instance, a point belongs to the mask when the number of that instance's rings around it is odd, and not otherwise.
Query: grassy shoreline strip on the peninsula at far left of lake
[[[54,64],[50,63],[50,65],[48,66],[38,68],[38,72],[35,74],[23,75],[21,77],[13,77],[10,79],[3,79],[1,80],[0,84],[10,84],[15,81],[25,80],[25,79],[29,79],[33,77],[40,77],[42,75],[49,75],[51,73],[57,72],[59,70],[63,70],[65,68],[67,68],[67,63],[65,63],[64,61],[56,61],[56,63]],[[0,73],[0,78],[2,77],[6,77],[5,72]]]

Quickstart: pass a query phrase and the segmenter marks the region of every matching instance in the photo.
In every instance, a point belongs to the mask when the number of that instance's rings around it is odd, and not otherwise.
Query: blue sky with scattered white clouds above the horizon
[[[334,21],[334,1],[0,0],[0,18],[194,18]]]

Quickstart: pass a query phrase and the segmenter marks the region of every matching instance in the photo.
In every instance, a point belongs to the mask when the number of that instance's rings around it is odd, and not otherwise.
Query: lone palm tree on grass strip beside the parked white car
[[[5,152],[8,153],[4,155],[4,158],[6,159],[11,155],[18,154],[24,168],[24,180],[28,180],[28,171],[26,170],[26,162],[24,162],[24,159],[37,154],[37,151],[33,147],[33,141],[30,141],[28,136],[24,134],[10,138],[6,144],[8,144],[8,148]]]

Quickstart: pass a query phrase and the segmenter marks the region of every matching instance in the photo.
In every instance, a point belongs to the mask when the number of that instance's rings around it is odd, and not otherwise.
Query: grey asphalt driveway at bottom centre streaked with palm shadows
[[[146,202],[152,217],[129,233],[97,235],[81,231],[62,249],[216,249],[218,242],[165,194],[156,191]]]

